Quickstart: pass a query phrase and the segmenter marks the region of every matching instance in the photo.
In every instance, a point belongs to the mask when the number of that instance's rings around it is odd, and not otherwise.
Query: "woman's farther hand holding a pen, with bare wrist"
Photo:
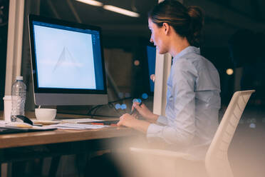
[[[132,106],[132,111],[133,109],[137,109],[137,111],[140,113],[141,116],[143,116],[147,121],[151,122],[151,123],[155,123],[157,121],[158,115],[152,113],[146,106],[144,103],[141,104],[134,102],[133,106]],[[133,115],[135,116],[135,114]]]

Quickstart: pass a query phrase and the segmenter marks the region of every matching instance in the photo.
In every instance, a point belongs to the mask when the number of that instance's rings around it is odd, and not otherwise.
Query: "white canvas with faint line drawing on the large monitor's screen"
[[[38,86],[96,89],[91,34],[34,25]]]

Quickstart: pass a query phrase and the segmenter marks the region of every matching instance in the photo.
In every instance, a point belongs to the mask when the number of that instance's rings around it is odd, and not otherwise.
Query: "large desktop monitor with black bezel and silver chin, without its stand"
[[[108,103],[99,27],[36,15],[28,25],[36,105]]]

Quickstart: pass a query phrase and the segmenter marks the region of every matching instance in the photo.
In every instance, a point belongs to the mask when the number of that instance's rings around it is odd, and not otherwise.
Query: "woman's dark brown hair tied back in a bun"
[[[204,13],[198,6],[185,7],[179,1],[165,0],[149,12],[148,18],[159,27],[169,24],[177,34],[186,37],[190,45],[199,46]]]

